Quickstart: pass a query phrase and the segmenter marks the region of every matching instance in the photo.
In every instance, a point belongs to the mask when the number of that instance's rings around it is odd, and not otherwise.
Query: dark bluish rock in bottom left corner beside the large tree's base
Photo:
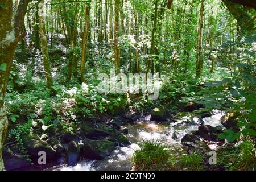
[[[15,154],[10,150],[3,150],[2,157],[3,163],[5,164],[5,170],[7,171],[26,168],[31,165],[23,156]]]

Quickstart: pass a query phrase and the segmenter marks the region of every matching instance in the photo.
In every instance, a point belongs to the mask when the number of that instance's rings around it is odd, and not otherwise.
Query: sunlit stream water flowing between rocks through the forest
[[[174,123],[155,123],[150,121],[150,115],[139,119],[133,125],[127,125],[129,134],[127,137],[132,143],[127,147],[117,147],[110,156],[103,160],[84,160],[74,167],[67,167],[62,164],[48,168],[47,170],[130,170],[133,167],[131,160],[134,150],[139,146],[138,143],[147,139],[162,139],[165,144],[170,146],[174,154],[182,154],[184,148],[181,146],[181,139],[185,134],[197,130],[201,123],[213,127],[220,126],[220,118],[223,112],[214,110],[213,115],[204,119],[184,115]]]

